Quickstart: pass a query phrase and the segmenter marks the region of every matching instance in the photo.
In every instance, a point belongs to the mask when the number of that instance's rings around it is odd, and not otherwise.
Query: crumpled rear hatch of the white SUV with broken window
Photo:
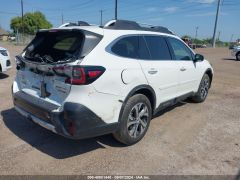
[[[102,36],[80,29],[44,30],[16,57],[21,91],[60,106],[71,90],[72,67],[96,47]]]

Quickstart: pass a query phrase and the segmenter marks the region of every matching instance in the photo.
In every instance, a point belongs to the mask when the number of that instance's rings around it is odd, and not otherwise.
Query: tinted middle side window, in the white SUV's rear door
[[[161,36],[144,36],[151,60],[171,60],[171,54],[165,39]]]

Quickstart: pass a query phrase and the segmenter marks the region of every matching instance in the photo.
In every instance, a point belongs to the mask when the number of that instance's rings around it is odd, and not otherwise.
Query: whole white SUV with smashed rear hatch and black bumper
[[[16,110],[65,137],[113,133],[131,145],[159,110],[203,102],[213,69],[163,27],[117,20],[41,30],[16,57]]]

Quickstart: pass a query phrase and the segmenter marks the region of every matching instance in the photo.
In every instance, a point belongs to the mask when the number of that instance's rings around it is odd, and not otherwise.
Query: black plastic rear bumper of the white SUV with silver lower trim
[[[48,103],[24,92],[13,94],[15,109],[27,119],[40,126],[72,139],[83,139],[113,133],[118,123],[105,123],[87,107],[66,102],[63,111],[59,106]]]

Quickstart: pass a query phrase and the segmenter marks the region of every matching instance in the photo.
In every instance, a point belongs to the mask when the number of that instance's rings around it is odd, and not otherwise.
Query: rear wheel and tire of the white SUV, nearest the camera
[[[132,96],[123,109],[120,127],[113,134],[115,139],[125,145],[137,143],[146,134],[151,118],[152,108],[149,99],[142,94]]]

